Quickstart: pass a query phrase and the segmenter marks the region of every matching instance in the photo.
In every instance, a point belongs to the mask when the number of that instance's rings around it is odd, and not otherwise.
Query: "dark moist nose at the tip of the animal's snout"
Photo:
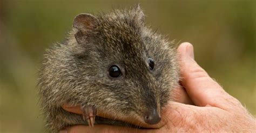
[[[157,124],[161,120],[161,117],[159,116],[157,109],[154,108],[150,112],[145,113],[144,121],[147,124]]]

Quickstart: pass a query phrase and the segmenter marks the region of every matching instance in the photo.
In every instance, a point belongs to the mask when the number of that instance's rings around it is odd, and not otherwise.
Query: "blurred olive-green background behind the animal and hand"
[[[44,132],[37,70],[77,14],[136,3],[153,29],[193,43],[201,67],[256,115],[255,1],[0,0],[0,132]]]

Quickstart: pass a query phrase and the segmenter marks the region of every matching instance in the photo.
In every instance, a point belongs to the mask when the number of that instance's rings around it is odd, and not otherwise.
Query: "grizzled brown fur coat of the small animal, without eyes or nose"
[[[93,23],[73,27],[63,43],[46,50],[39,71],[39,95],[50,131],[87,125],[82,115],[62,109],[65,103],[139,119],[146,110],[167,104],[179,80],[176,50],[144,24],[139,6],[99,13]],[[153,71],[148,68],[149,57],[155,61]],[[124,71],[122,77],[108,76],[113,64]],[[100,123],[124,125],[96,117]]]

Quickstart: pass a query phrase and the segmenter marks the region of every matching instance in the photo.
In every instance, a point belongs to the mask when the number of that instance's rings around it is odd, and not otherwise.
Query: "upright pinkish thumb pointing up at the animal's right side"
[[[207,72],[194,61],[193,46],[181,43],[178,47],[181,84],[194,104],[198,106],[222,106],[225,108],[229,95]]]

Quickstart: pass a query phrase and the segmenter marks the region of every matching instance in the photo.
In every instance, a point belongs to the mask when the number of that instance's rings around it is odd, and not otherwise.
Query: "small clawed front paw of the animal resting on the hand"
[[[86,120],[90,127],[93,127],[95,123],[96,108],[93,106],[81,107],[84,121]]]

